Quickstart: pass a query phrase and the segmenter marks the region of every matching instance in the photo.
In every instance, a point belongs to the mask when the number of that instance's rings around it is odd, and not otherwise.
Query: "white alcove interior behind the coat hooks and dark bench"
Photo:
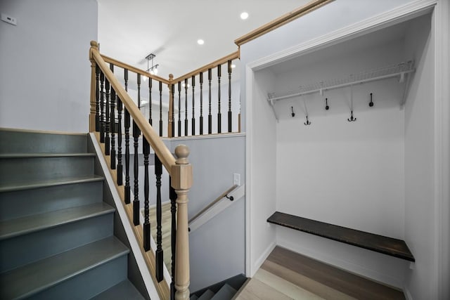
[[[432,178],[431,27],[430,13],[416,16],[255,72],[256,86],[268,89],[259,101],[275,115],[267,123],[276,159],[267,163],[276,171],[277,211],[409,243],[414,215],[430,212],[417,199]],[[387,74],[395,76],[378,78]],[[344,252],[287,228],[276,236],[318,258]],[[363,266],[366,252],[356,251],[348,256]],[[366,268],[390,269],[380,273],[399,287],[412,266],[394,260]]]

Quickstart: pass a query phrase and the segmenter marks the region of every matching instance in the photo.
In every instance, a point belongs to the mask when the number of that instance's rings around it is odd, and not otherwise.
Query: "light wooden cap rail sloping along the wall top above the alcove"
[[[243,35],[242,37],[239,37],[238,39],[234,40],[234,43],[238,46],[241,46],[245,43],[248,43],[249,41],[252,41],[252,39],[256,39],[257,37],[261,37],[263,34],[266,34],[267,32],[271,32],[272,30],[275,30],[276,28],[285,25],[288,22],[291,22],[302,15],[305,15],[307,13],[310,13],[311,11],[314,11],[315,9],[330,3],[333,0],[314,0],[309,2],[308,4],[305,4],[304,6],[300,8],[296,8],[293,11],[290,11],[289,13],[286,13],[285,15],[282,15],[279,18],[276,18],[275,20],[262,25],[261,27],[258,27],[257,29],[249,32],[248,34]]]

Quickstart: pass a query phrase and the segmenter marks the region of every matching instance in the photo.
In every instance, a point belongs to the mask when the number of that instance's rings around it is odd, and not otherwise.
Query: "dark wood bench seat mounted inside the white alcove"
[[[406,261],[416,261],[404,240],[375,235],[374,233],[366,233],[360,230],[302,218],[301,216],[284,214],[279,211],[272,214],[267,219],[267,222],[300,230],[304,233],[319,235],[320,237],[326,237],[338,242],[352,244],[356,247],[405,259]]]

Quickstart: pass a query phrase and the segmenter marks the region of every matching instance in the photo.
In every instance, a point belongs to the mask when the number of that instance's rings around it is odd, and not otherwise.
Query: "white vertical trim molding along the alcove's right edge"
[[[450,4],[435,8],[435,270],[438,299],[450,299]]]

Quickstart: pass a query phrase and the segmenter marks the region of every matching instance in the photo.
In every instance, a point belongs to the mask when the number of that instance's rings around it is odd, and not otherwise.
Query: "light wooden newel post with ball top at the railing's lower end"
[[[175,299],[189,299],[189,235],[188,235],[188,192],[192,186],[192,165],[189,164],[189,148],[178,145],[177,157],[172,166],[172,188],[177,198],[176,204],[176,249],[175,249]]]

